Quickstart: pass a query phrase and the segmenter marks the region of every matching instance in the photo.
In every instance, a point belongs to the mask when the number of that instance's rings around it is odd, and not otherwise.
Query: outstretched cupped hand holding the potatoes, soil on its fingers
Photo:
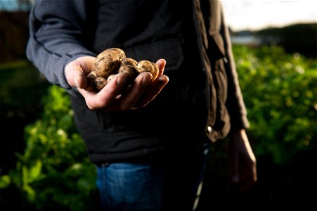
[[[153,82],[152,75],[149,72],[143,72],[134,79],[129,89],[123,92],[123,89],[127,87],[125,83],[127,77],[119,73],[101,91],[86,91],[86,75],[93,70],[95,59],[92,56],[80,57],[68,63],[65,68],[68,84],[71,87],[77,87],[91,110],[103,109],[108,112],[142,108],[150,103],[169,82],[169,78],[164,75],[166,61],[159,59],[156,64],[160,72]]]

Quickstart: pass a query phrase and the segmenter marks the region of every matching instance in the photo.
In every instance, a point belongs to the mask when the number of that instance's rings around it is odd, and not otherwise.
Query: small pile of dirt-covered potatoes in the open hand
[[[138,74],[145,71],[153,75],[153,80],[157,78],[159,73],[157,65],[153,62],[148,60],[137,62],[133,58],[127,58],[122,49],[105,49],[98,54],[93,71],[87,75],[86,90],[100,91],[119,72],[127,75],[127,83],[131,84]]]

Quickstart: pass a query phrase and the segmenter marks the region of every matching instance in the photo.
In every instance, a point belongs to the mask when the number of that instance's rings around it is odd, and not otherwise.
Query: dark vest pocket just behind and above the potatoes
[[[135,60],[150,60],[155,63],[160,58],[167,61],[164,71],[177,70],[183,63],[183,50],[179,39],[166,39],[151,44],[124,49],[127,57]]]

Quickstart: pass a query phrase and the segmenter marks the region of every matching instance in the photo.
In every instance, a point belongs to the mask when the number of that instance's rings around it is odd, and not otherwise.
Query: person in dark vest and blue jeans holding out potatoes
[[[150,60],[127,90],[117,74],[87,91],[98,53]],[[257,181],[247,112],[221,1],[35,1],[27,58],[69,94],[96,165],[104,210],[195,210],[214,141],[228,141],[231,178]]]

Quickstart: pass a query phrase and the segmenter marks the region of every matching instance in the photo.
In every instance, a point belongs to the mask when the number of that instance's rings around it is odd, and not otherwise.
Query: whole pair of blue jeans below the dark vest
[[[209,144],[163,162],[117,162],[97,166],[103,210],[193,210],[198,201]]]

